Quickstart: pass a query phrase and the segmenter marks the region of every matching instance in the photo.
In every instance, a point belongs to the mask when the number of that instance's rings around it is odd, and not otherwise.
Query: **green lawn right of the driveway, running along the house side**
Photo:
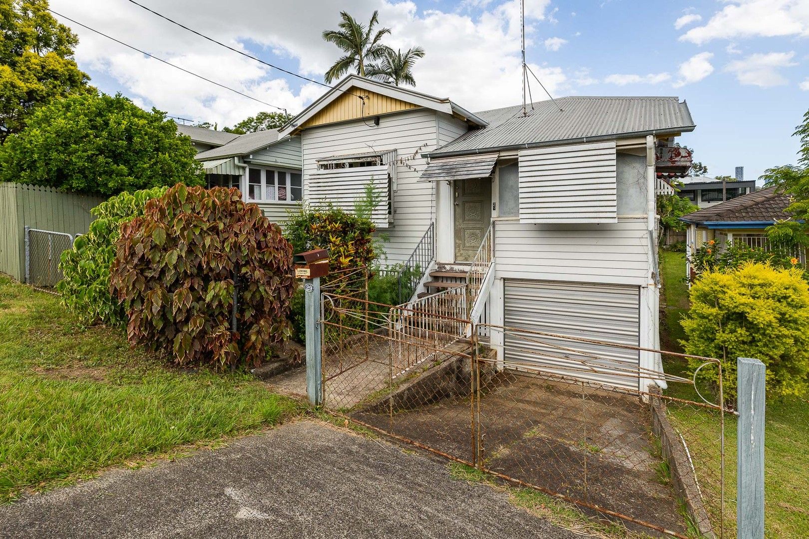
[[[685,256],[682,253],[661,251],[661,276],[665,316],[661,324],[660,340],[663,349],[682,352],[679,344],[684,332],[679,320],[688,310],[688,288],[682,280],[685,275]],[[809,331],[809,328],[807,328]],[[667,358],[666,371],[682,374],[688,371],[683,361]],[[678,387],[679,386],[679,387]],[[667,394],[697,400],[688,386],[671,384]],[[705,419],[706,415],[676,414],[693,436],[702,433],[703,440],[718,432],[718,425]],[[735,422],[728,418],[726,427],[726,489],[727,498],[735,499]],[[687,436],[688,437],[688,436]],[[696,444],[700,442],[695,440]],[[697,468],[713,466],[718,462],[716,444],[701,444],[707,451],[701,458],[695,457]],[[809,537],[809,401],[788,398],[768,402],[765,424],[765,527],[767,537]],[[699,471],[699,470],[698,470]],[[703,476],[711,476],[713,470],[703,470]],[[705,485],[706,490],[718,490],[718,485]],[[715,493],[714,493],[715,494]],[[726,514],[735,514],[735,504],[727,503]],[[735,537],[735,528],[733,528]],[[728,535],[726,534],[726,537]]]

